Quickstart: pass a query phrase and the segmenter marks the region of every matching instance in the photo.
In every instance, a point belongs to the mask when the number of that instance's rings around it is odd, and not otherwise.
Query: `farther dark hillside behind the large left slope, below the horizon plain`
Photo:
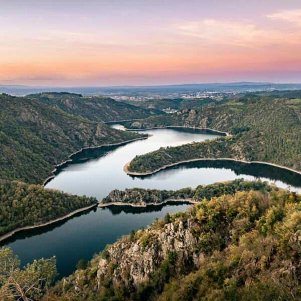
[[[67,92],[44,92],[29,94],[27,97],[97,122],[131,120],[164,114],[161,110],[138,108],[108,97],[83,97],[81,94]]]

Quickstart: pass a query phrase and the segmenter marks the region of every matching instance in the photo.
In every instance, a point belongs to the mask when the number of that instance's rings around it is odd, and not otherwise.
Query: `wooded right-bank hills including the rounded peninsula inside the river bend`
[[[300,91],[281,92],[279,98],[268,93],[262,96],[246,94],[199,110],[184,109],[128,122],[125,126],[130,128],[190,126],[231,134],[211,141],[160,148],[134,158],[128,170],[152,172],[166,165],[197,158],[263,161],[301,170],[300,97]]]

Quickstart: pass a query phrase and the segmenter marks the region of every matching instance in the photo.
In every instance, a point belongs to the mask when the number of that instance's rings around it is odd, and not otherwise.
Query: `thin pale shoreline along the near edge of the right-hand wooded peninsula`
[[[185,161],[180,161],[177,163],[173,163],[173,164],[169,164],[169,165],[164,165],[163,167],[156,169],[152,172],[145,172],[145,173],[137,173],[137,172],[131,172],[128,170],[129,168],[129,164],[131,163],[131,161],[127,162],[124,167],[123,167],[123,171],[130,176],[147,176],[147,175],[152,175],[155,173],[160,172],[161,170],[164,170],[168,167],[172,167],[172,166],[176,166],[182,163],[189,163],[189,162],[195,162],[195,161],[217,161],[217,160],[227,160],[227,161],[235,161],[235,162],[241,162],[241,163],[247,163],[247,164],[252,164],[252,163],[257,163],[257,164],[265,164],[265,165],[269,165],[269,166],[273,166],[273,167],[277,167],[280,169],[284,169],[296,174],[301,175],[301,172],[295,171],[291,168],[285,167],[285,166],[281,166],[281,165],[277,165],[277,164],[273,164],[273,163],[268,163],[268,162],[261,162],[261,161],[244,161],[244,160],[237,160],[237,159],[232,159],[232,158],[199,158],[199,159],[191,159],[191,160],[185,160]]]

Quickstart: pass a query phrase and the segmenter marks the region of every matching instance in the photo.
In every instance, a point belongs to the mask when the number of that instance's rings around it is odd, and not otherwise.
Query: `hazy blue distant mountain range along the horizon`
[[[183,85],[157,85],[157,86],[112,86],[112,87],[49,87],[25,85],[0,85],[0,93],[25,96],[40,92],[70,92],[83,95],[101,94],[107,92],[189,92],[189,91],[217,91],[217,92],[244,92],[267,90],[296,90],[301,89],[301,83],[276,84],[270,82],[234,82],[234,83],[209,83],[209,84],[183,84]]]

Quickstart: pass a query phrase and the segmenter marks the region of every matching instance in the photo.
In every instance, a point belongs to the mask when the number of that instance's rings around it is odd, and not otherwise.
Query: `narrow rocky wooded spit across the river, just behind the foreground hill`
[[[197,188],[182,188],[179,190],[158,190],[131,188],[120,191],[115,189],[103,198],[102,204],[114,202],[132,204],[135,206],[146,206],[147,204],[162,204],[168,200],[201,202],[204,198],[219,197],[223,194],[234,194],[237,191],[271,191],[272,188],[267,182],[244,181],[236,179],[234,181],[217,182],[209,185],[199,185]]]

